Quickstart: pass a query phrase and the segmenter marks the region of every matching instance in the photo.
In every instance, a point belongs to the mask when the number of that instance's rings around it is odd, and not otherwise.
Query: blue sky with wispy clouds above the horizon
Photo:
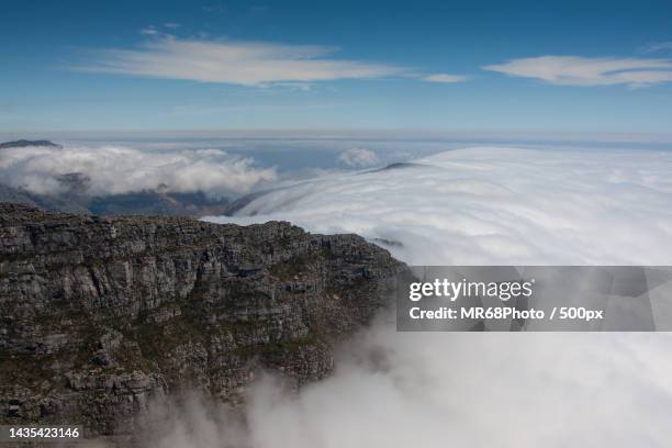
[[[670,1],[1,0],[0,13],[5,133],[670,133]]]

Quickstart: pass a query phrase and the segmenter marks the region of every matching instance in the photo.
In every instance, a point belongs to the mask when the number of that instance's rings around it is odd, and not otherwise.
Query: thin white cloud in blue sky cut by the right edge
[[[649,87],[672,82],[672,60],[613,57],[539,56],[489,65],[485,70],[564,86]]]

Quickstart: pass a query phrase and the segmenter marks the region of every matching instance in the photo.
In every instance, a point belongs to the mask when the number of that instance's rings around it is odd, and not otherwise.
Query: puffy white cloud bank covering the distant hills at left
[[[59,177],[86,175],[86,193],[117,194],[161,189],[242,194],[276,179],[275,169],[221,149],[136,149],[124,146],[3,149],[0,179],[14,188],[49,194],[68,188]]]

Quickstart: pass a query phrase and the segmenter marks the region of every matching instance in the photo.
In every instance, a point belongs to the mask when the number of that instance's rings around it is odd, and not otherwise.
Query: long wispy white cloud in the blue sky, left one
[[[336,59],[331,57],[334,52],[335,48],[324,46],[179,40],[164,35],[137,49],[101,51],[91,63],[76,69],[243,86],[372,79],[406,71],[392,65]]]

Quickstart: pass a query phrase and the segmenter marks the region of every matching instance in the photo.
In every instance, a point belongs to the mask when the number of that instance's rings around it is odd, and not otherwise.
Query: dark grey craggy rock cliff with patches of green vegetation
[[[0,424],[119,436],[180,389],[236,403],[260,368],[321,379],[402,269],[356,235],[283,222],[0,204]]]

